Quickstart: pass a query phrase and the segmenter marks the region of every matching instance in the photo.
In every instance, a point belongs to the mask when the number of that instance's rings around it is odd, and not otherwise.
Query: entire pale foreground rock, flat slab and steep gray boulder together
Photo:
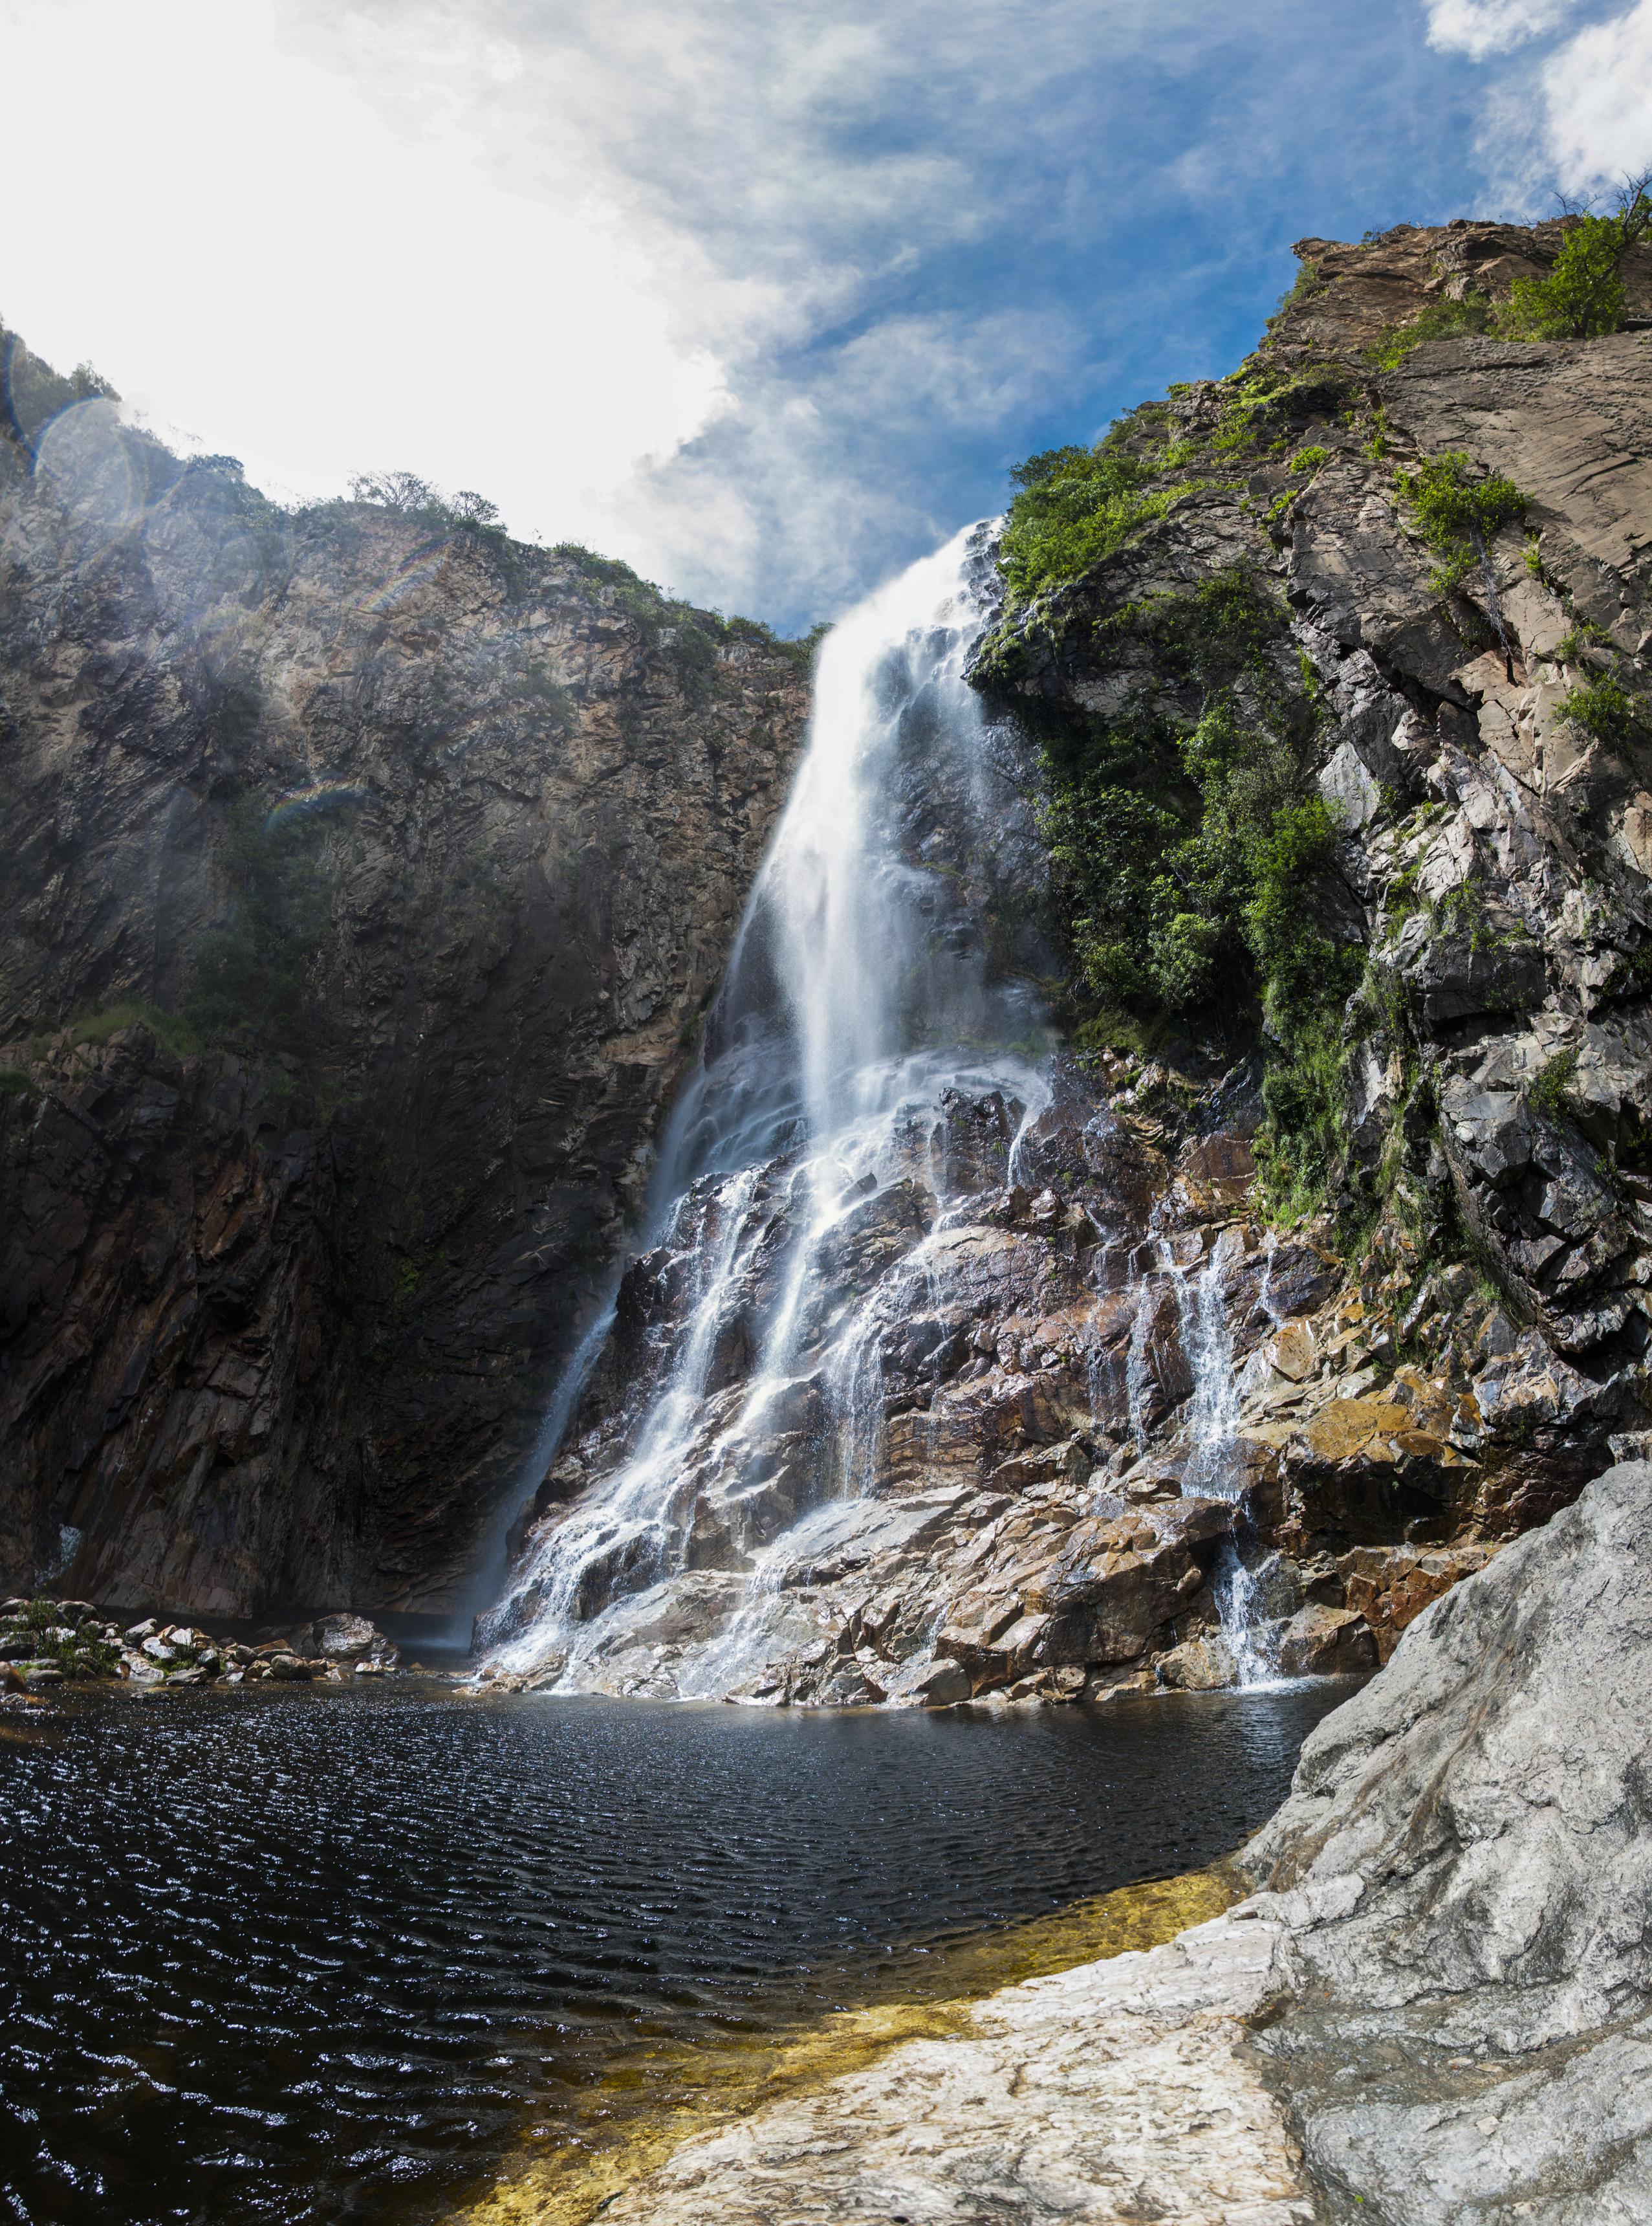
[[[1630,1462],[1322,1718],[1249,1901],[701,2135],[606,2215],[1643,2219],[1650,1672]]]

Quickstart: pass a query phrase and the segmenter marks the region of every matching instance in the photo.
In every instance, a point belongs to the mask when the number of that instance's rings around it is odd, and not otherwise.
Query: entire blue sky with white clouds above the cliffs
[[[795,632],[1231,370],[1300,236],[1652,162],[1652,0],[0,0],[0,318]]]

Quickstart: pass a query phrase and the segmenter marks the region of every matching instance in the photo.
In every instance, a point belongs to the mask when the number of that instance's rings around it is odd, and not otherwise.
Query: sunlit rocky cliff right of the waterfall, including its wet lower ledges
[[[1369,1667],[1643,1445],[1652,249],[1625,329],[1498,338],[1565,236],[1305,240],[1231,378],[1024,467],[973,679],[1044,828],[995,902],[1064,917],[1053,1091],[913,1120],[786,1400],[732,1431],[790,1242],[764,1173],[681,1574],[592,1563],[581,1674],[684,1690],[759,1565],[753,1698]],[[630,1269],[541,1543],[630,1458],[697,1242]],[[871,1425],[833,1407],[846,1300]],[[846,1429],[864,1489],[781,1567]]]

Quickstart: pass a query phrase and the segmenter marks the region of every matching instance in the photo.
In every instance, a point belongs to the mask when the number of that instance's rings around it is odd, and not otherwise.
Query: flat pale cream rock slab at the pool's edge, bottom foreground
[[[1309,2226],[1245,2019],[1271,1928],[1200,1925],[989,1997],[968,2030],[686,2144],[603,2217],[630,2226]]]

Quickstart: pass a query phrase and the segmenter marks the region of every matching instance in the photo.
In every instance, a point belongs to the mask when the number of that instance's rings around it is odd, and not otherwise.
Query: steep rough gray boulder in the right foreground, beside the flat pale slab
[[[1300,2003],[1276,2077],[1360,2215],[1648,2215],[1648,1692],[1652,1465],[1625,1462],[1416,1618],[1245,1850]]]

